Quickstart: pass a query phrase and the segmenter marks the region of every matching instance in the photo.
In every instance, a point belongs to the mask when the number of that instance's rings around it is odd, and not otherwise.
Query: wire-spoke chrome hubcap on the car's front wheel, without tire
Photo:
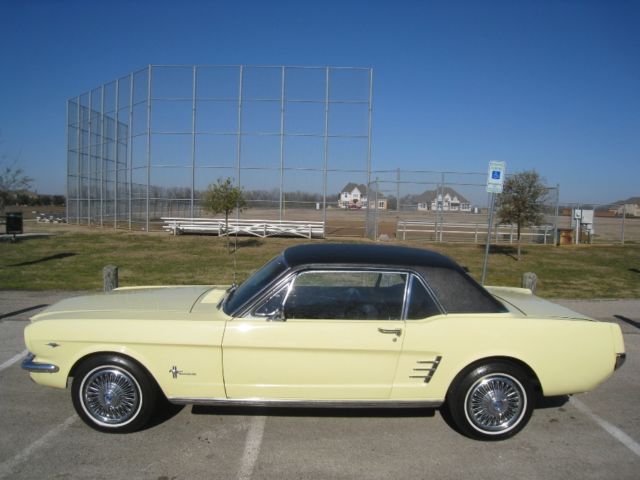
[[[85,378],[82,404],[91,417],[104,425],[122,425],[140,410],[140,387],[126,372],[99,368]]]

